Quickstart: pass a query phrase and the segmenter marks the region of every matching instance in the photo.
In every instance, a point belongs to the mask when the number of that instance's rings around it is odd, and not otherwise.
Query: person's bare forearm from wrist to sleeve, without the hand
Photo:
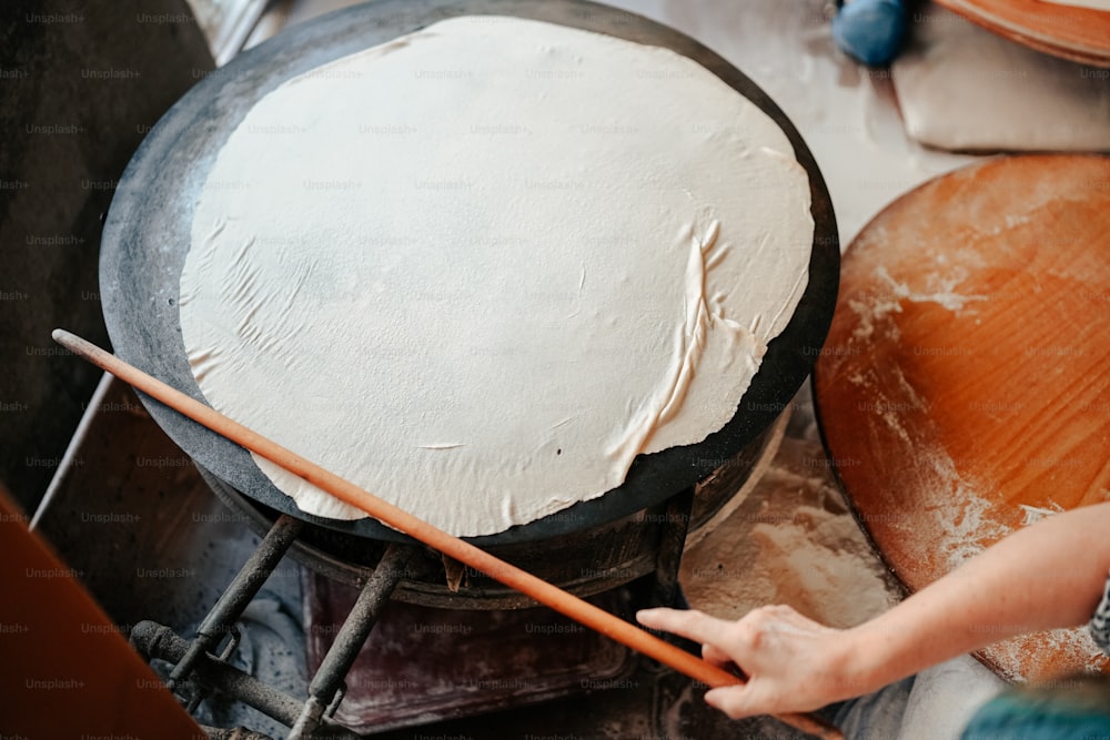
[[[847,630],[874,688],[1012,635],[1090,619],[1110,571],[1110,504],[1015,533],[890,611]]]

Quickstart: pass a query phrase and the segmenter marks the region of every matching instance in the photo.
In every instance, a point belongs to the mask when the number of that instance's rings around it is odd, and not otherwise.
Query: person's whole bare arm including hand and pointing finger
[[[805,711],[860,696],[1011,635],[1090,619],[1110,571],[1110,504],[1059,514],[995,545],[890,611],[847,630],[790,607],[728,622],[699,611],[649,609],[639,620],[736,663],[745,686],[706,701],[738,718]]]

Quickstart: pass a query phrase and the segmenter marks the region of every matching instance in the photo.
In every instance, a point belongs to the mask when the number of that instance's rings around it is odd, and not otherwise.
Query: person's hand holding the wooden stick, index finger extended
[[[761,607],[739,621],[676,609],[645,609],[636,619],[649,629],[700,642],[702,656],[710,663],[739,669],[746,683],[705,695],[707,704],[733,719],[811,711],[878,688],[854,677],[854,651],[844,630],[788,606]]]

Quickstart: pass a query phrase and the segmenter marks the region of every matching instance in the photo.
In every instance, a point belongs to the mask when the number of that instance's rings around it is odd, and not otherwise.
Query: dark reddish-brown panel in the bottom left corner
[[[0,486],[3,737],[205,737],[84,589],[83,571],[28,525]],[[89,527],[85,536],[101,537]]]

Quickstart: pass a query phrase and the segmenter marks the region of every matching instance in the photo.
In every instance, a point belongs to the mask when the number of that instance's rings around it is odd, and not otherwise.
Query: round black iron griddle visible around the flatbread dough
[[[595,527],[697,483],[725,465],[778,416],[817,358],[831,322],[839,278],[839,245],[828,191],[793,124],[759,88],[724,59],[667,27],[577,0],[379,0],[314,19],[204,77],[151,130],[115,191],[104,224],[100,281],[114,352],[203,401],[181,339],[178,285],[198,197],[229,134],[258,100],[285,80],[435,21],[464,14],[516,16],[561,23],[666,47],[699,62],[786,132],[797,160],[809,173],[815,222],[809,285],[789,325],[770,343],[735,417],[723,429],[697,445],[640,456],[626,481],[598,498],[503,533],[470,538],[480,546],[490,546],[542,540]],[[280,153],[275,151],[274,155]],[[143,403],[174,443],[246,496],[339,531],[407,540],[374,519],[340,521],[304,514],[259,470],[246,450],[150,398],[144,397]]]

